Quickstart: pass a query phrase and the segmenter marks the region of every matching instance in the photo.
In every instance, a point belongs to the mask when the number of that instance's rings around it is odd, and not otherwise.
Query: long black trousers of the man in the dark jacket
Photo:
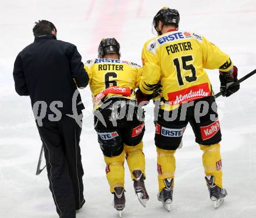
[[[75,119],[66,115],[56,122],[45,119],[37,128],[44,146],[49,189],[56,211],[60,218],[74,218],[76,210],[85,202],[79,146],[81,128]]]

